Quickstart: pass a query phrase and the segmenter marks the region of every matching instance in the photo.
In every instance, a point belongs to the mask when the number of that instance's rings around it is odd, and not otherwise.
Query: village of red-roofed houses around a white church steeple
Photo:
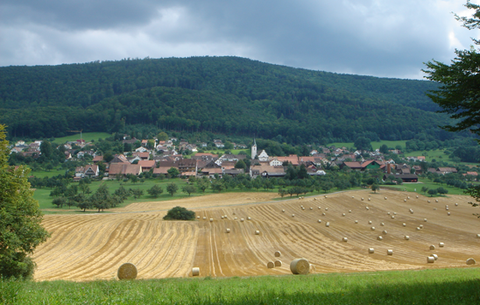
[[[170,138],[168,140],[129,138],[124,136],[122,144],[130,147],[131,151],[123,154],[105,156],[94,148],[92,143],[84,140],[67,142],[57,147],[65,154],[65,162],[75,160],[90,160],[83,166],[75,169],[74,181],[85,177],[95,179],[119,179],[126,176],[139,176],[150,173],[158,177],[210,177],[222,178],[237,175],[249,175],[251,178],[282,178],[286,175],[287,166],[304,166],[309,176],[327,175],[331,169],[350,169],[365,171],[379,169],[384,173],[383,180],[391,182],[418,182],[418,176],[426,172],[445,175],[457,173],[455,167],[427,168],[424,166],[425,157],[416,156],[405,158],[404,162],[395,162],[388,158],[391,154],[398,155],[398,149],[392,149],[385,156],[379,149],[373,151],[350,151],[346,147],[319,147],[312,149],[308,156],[290,154],[288,156],[269,156],[265,150],[259,151],[256,141],[249,146],[245,144],[228,143],[234,149],[242,149],[239,154],[231,154],[225,149],[225,144],[218,139],[213,145],[225,153],[198,152],[206,149],[205,142],[192,144],[185,140]],[[36,159],[41,156],[42,141],[26,144],[17,141],[11,147],[11,154],[21,154],[24,157]],[[247,155],[247,149],[250,155]],[[185,155],[179,152],[189,151]],[[364,156],[368,156],[365,158]],[[107,158],[105,158],[107,157]],[[413,164],[413,165],[412,165]],[[464,173],[464,176],[476,178],[477,172]]]

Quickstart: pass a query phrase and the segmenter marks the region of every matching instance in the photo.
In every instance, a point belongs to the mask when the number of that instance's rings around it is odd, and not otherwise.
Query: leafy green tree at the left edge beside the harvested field
[[[29,169],[8,165],[5,126],[0,125],[0,276],[30,278],[35,263],[28,256],[49,236],[28,183]]]

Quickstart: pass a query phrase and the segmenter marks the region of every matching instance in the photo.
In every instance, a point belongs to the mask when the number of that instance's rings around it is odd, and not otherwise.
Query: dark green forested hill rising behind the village
[[[119,131],[124,124],[291,143],[451,136],[427,81],[335,74],[238,57],[1,67],[0,123],[13,136]]]

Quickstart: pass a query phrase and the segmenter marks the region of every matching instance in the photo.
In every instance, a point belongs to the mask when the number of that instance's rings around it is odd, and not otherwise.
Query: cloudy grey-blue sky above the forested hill
[[[477,35],[466,0],[2,0],[0,66],[235,55],[421,79]],[[478,3],[472,1],[472,3]]]

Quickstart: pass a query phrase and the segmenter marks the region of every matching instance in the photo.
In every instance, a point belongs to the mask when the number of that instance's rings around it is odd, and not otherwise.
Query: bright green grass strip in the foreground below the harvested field
[[[478,268],[92,282],[0,280],[3,304],[479,304]]]

